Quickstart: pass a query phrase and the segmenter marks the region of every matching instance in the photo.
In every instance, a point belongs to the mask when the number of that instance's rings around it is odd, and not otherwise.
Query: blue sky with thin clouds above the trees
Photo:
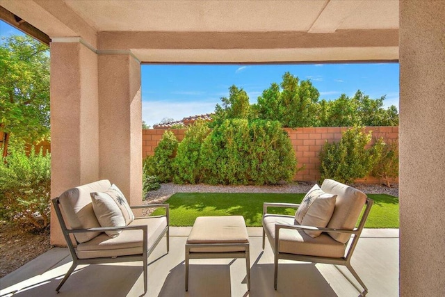
[[[0,35],[22,32],[0,21]],[[142,65],[142,116],[153,126],[163,118],[181,120],[211,113],[229,87],[243,88],[250,103],[271,83],[280,83],[284,72],[310,79],[320,99],[353,96],[357,90],[371,98],[386,95],[385,107],[398,108],[398,63],[303,65]]]

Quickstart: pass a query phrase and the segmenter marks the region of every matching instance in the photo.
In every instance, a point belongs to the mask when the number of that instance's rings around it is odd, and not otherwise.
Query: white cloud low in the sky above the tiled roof
[[[202,115],[213,113],[219,100],[209,101],[143,101],[142,119],[153,127],[154,124],[161,122],[163,118],[173,118],[182,120],[191,115]]]

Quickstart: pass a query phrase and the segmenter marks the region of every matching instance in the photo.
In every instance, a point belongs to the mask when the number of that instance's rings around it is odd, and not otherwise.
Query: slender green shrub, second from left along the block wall
[[[209,131],[210,129],[204,121],[197,121],[194,125],[188,127],[184,139],[178,145],[173,182],[177,184],[196,184],[200,182],[202,176],[199,163],[201,145]]]

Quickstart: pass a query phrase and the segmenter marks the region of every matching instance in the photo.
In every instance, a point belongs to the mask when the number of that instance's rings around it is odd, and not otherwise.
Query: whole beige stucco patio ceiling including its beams
[[[53,40],[81,37],[99,51],[131,50],[148,63],[398,61],[398,5],[398,0],[1,3]]]

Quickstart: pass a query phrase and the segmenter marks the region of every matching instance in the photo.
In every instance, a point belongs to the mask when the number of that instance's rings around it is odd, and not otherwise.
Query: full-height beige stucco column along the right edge
[[[445,296],[445,3],[400,2],[400,293]]]

